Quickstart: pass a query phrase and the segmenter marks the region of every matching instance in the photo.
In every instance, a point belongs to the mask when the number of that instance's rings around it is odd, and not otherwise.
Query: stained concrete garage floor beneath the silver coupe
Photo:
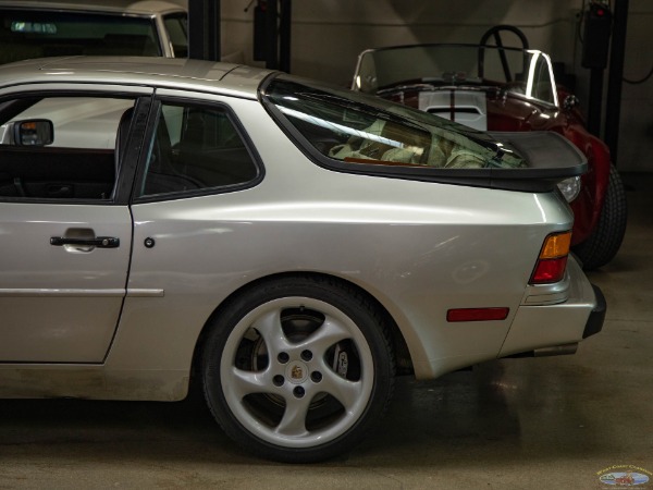
[[[0,401],[0,489],[606,489],[599,475],[613,466],[651,476],[653,175],[625,181],[626,241],[589,274],[608,301],[606,323],[574,356],[401,378],[377,433],[310,466],[250,457],[198,397]],[[653,476],[637,488],[653,489]]]

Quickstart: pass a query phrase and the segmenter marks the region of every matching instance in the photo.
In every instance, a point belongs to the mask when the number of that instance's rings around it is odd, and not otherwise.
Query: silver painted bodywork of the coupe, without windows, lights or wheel
[[[121,86],[220,101],[249,135],[264,177],[244,191],[132,206],[0,201],[0,396],[183,399],[211,314],[242,286],[285,272],[342,278],[372,295],[401,330],[417,378],[581,340],[595,298],[574,258],[560,283],[528,285],[545,236],[571,228],[559,194],[318,167],[257,99],[266,71],[48,63],[0,69],[0,96]],[[121,246],[49,245],[72,228]],[[507,319],[446,322],[449,308],[492,306],[508,307]]]

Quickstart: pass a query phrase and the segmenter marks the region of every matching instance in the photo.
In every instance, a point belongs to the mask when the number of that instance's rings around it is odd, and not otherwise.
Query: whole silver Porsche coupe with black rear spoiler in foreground
[[[284,462],[342,454],[397,373],[568,354],[605,301],[569,255],[554,133],[182,59],[0,68],[0,397],[176,401]]]

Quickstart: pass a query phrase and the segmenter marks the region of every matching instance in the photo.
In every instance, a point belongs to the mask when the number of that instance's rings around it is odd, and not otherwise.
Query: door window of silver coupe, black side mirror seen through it
[[[134,102],[103,97],[1,102],[0,199],[111,198]]]

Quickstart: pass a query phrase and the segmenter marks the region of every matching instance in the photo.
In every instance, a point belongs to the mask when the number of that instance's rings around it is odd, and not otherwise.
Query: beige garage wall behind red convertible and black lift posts
[[[615,0],[613,0],[614,2]],[[252,61],[252,8],[222,0],[222,50]],[[366,48],[416,42],[477,42],[497,24],[513,24],[531,47],[552,54],[576,75],[587,101],[589,72],[580,66],[578,13],[582,0],[295,0],[292,72],[348,86],[357,54]],[[653,2],[630,0],[625,75],[641,78],[653,65]],[[607,77],[605,78],[607,85]],[[624,85],[619,161],[621,170],[653,171],[653,79]]]

